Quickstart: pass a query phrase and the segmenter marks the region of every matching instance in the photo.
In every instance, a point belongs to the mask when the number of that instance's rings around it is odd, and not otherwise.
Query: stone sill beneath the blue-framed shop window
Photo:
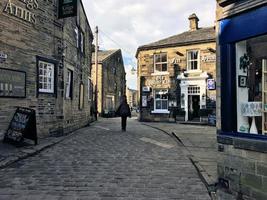
[[[266,140],[264,141],[227,135],[218,135],[217,142],[219,144],[233,145],[235,149],[244,149],[260,153],[267,153]]]

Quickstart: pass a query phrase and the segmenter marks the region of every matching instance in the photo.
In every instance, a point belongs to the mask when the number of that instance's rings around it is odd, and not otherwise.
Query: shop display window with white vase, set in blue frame
[[[267,36],[236,43],[237,131],[267,135]]]

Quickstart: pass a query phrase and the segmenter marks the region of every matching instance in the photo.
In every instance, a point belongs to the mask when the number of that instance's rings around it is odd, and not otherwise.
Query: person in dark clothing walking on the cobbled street
[[[121,117],[121,130],[126,131],[127,117],[132,117],[130,106],[127,103],[126,95],[122,96],[122,101],[119,108],[116,111],[116,114]]]

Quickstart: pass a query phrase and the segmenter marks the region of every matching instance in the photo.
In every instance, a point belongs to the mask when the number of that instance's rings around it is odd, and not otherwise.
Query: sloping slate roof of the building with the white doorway
[[[181,34],[159,40],[157,42],[152,42],[150,44],[140,46],[137,49],[136,57],[139,51],[142,50],[176,47],[176,46],[184,46],[184,45],[215,42],[215,41],[216,41],[216,36],[215,36],[214,26],[207,28],[199,28],[195,31],[186,31]]]

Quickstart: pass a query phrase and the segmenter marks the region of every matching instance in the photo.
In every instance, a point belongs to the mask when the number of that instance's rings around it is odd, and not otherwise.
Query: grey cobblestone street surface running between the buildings
[[[100,119],[73,137],[0,170],[0,199],[207,200],[198,174],[170,136]]]

